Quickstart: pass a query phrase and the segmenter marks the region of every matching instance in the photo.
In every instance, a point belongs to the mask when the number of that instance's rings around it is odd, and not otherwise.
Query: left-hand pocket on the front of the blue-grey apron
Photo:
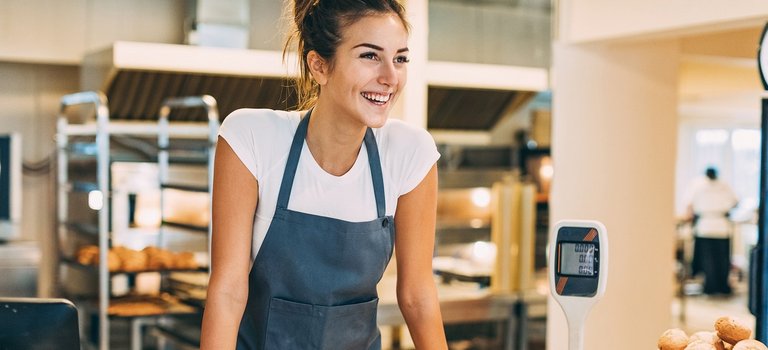
[[[317,322],[314,307],[272,298],[267,316],[267,350],[317,349]]]

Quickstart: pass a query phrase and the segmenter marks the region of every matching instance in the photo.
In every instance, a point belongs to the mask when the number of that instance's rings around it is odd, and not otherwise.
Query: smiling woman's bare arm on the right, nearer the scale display
[[[419,350],[447,349],[432,277],[437,210],[437,168],[397,201],[397,302]]]

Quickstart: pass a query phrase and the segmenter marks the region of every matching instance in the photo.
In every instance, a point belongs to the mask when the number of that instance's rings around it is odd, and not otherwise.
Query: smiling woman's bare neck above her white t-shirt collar
[[[318,102],[312,109],[307,130],[307,147],[325,172],[342,176],[357,160],[366,127],[344,118]]]

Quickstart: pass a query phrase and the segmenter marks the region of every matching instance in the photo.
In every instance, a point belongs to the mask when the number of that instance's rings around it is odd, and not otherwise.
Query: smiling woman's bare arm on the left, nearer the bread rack
[[[203,315],[202,350],[234,349],[248,300],[253,217],[258,183],[221,137],[213,177],[211,278]]]

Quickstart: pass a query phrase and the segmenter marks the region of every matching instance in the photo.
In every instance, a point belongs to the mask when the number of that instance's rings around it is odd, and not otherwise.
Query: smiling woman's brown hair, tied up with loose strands
[[[320,94],[309,73],[307,53],[317,52],[333,67],[336,49],[344,28],[361,18],[375,14],[394,13],[409,28],[405,9],[397,0],[295,0],[293,30],[283,46],[283,59],[295,42],[299,54],[299,76],[295,79],[298,108],[314,105]]]

